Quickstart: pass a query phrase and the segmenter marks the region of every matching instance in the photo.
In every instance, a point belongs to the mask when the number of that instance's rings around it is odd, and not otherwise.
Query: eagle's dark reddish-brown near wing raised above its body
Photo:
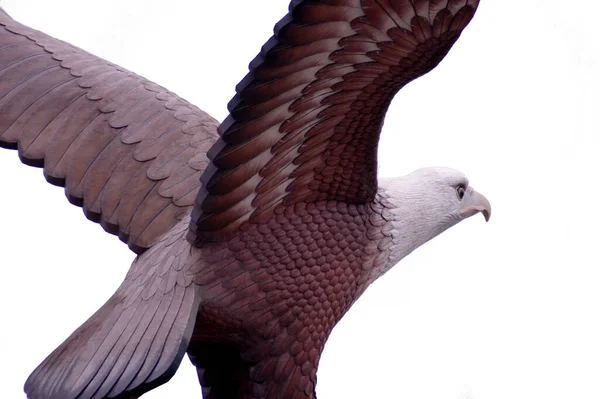
[[[188,240],[225,239],[281,203],[371,200],[393,96],[442,60],[478,3],[292,1],[229,103]]]

